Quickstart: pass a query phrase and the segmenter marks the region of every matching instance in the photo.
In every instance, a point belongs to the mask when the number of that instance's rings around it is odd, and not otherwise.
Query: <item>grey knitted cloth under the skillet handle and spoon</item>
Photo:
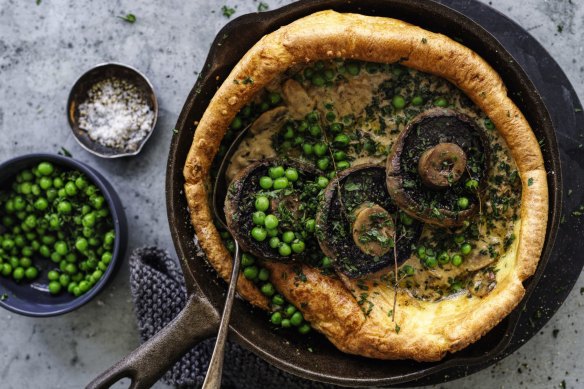
[[[187,292],[180,267],[166,251],[155,247],[136,249],[130,256],[130,287],[142,342],[168,324],[185,305]],[[180,388],[200,387],[214,342],[209,339],[194,347],[163,380]],[[235,343],[229,343],[226,349],[222,387],[333,388],[287,374]]]

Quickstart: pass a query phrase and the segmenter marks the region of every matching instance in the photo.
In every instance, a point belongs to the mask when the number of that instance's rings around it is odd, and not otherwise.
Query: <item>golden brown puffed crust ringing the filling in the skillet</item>
[[[517,306],[525,292],[522,281],[537,267],[547,226],[547,179],[535,135],[498,74],[470,49],[399,20],[333,11],[315,13],[264,36],[218,89],[197,127],[184,168],[191,221],[209,262],[228,279],[231,256],[213,225],[207,201],[209,169],[221,139],[243,105],[288,68],[337,57],[400,61],[449,80],[491,118],[519,169],[521,220],[516,256],[505,262],[510,270],[501,272],[504,277],[499,273],[497,287],[484,298],[426,303],[399,293],[394,313],[399,331],[379,309],[366,316],[339,280],[318,269],[303,266],[306,282],[302,282],[295,280],[291,265],[267,265],[276,287],[340,350],[380,359],[439,360],[476,341]],[[238,291],[252,304],[268,307],[267,299],[243,277]]]

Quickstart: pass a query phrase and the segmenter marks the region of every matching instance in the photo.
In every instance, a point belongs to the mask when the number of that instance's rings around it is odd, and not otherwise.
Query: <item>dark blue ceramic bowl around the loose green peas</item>
[[[5,296],[4,299],[0,299],[0,306],[21,315],[37,317],[55,316],[70,312],[95,297],[117,272],[124,258],[128,241],[126,215],[114,188],[97,170],[73,158],[55,154],[28,154],[10,159],[0,164],[0,188],[4,183],[10,182],[21,170],[31,168],[42,161],[52,162],[54,165],[63,168],[79,170],[101,190],[113,218],[116,240],[112,261],[102,278],[87,293],[79,297],[67,292],[53,296],[48,292],[47,268],[49,266],[51,268],[54,267],[50,260],[35,261],[35,265],[39,268],[39,277],[32,282],[16,283],[12,278],[0,276],[0,296]]]

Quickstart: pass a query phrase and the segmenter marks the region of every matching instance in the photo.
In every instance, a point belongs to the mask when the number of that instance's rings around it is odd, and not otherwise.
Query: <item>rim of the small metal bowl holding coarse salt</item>
[[[150,129],[148,134],[146,134],[146,136],[140,141],[139,146],[136,150],[116,152],[115,154],[102,154],[99,151],[93,150],[92,148],[88,147],[83,142],[81,142],[81,140],[79,139],[79,135],[75,131],[74,121],[73,121],[72,112],[71,112],[71,105],[74,102],[74,99],[73,99],[74,93],[73,92],[75,92],[79,88],[81,81],[83,81],[83,79],[85,77],[87,77],[91,72],[96,71],[96,70],[100,71],[100,70],[107,68],[107,67],[110,67],[110,66],[129,70],[130,72],[135,73],[136,76],[138,76],[138,78],[141,78],[146,83],[146,85],[148,86],[149,92],[150,92],[149,96],[152,98],[152,108],[154,111],[154,120],[152,121],[152,128]],[[123,64],[121,62],[115,62],[115,61],[98,63],[97,65],[92,66],[87,71],[85,71],[82,75],[80,75],[75,80],[75,83],[73,84],[73,86],[71,87],[71,90],[69,91],[69,96],[67,97],[67,105],[65,107],[65,110],[66,110],[66,114],[67,114],[67,122],[69,123],[69,127],[71,129],[71,132],[73,133],[73,137],[75,138],[77,143],[85,151],[87,151],[93,155],[96,155],[100,158],[105,158],[105,159],[115,159],[115,158],[131,157],[134,155],[138,155],[140,153],[140,151],[142,151],[142,148],[144,148],[144,145],[146,144],[146,142],[148,142],[148,139],[150,139],[150,137],[152,136],[152,133],[156,129],[156,123],[158,122],[158,98],[156,97],[156,92],[154,91],[154,86],[152,85],[152,83],[150,82],[148,77],[146,77],[146,75],[144,73],[142,73],[141,71],[139,71],[137,68],[135,68],[133,66],[126,65],[126,64]]]

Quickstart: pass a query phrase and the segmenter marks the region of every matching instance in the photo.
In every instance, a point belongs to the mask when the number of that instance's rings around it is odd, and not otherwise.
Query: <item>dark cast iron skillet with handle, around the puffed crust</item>
[[[472,1],[462,2],[464,5],[458,0],[451,2],[456,3],[458,8],[469,6],[488,10],[485,5]],[[183,192],[182,169],[195,131],[194,122],[202,116],[231,68],[261,36],[299,17],[324,9],[395,17],[444,33],[462,40],[498,71],[513,100],[526,115],[538,139],[542,140],[546,170],[550,172],[550,214],[544,251],[536,274],[526,282],[527,295],[520,306],[481,340],[439,362],[372,360],[341,353],[318,334],[311,337],[282,335],[270,328],[265,313],[251,308],[244,301],[235,302],[233,315],[237,320],[231,324],[231,334],[240,344],[285,371],[308,379],[348,386],[407,385],[424,379],[426,382],[443,382],[463,374],[443,375],[444,372],[476,371],[505,354],[517,324],[522,321],[522,311],[529,308],[526,303],[552,255],[560,224],[560,155],[552,121],[541,97],[522,68],[493,36],[469,18],[439,3],[428,0],[300,1],[272,12],[237,18],[217,35],[204,70],[177,122],[178,134],[173,138],[167,166],[168,217],[189,300],[173,322],[88,387],[107,387],[123,377],[132,379],[133,388],[148,387],[193,345],[217,332],[225,284],[217,280],[197,245]],[[237,39],[228,39],[235,36]],[[579,272],[582,264],[577,263],[574,268]],[[576,278],[569,280],[568,291]],[[567,292],[561,295],[561,301],[566,295]],[[553,308],[553,312],[558,307]],[[309,347],[313,352],[308,351]]]

